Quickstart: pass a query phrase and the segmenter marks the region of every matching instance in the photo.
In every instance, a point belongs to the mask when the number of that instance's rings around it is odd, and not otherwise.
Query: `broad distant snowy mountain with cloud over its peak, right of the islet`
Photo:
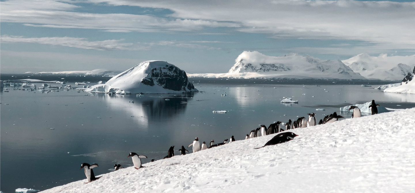
[[[365,79],[342,61],[321,60],[293,53],[266,56],[258,51],[244,51],[235,62],[228,73],[190,74],[189,77]]]

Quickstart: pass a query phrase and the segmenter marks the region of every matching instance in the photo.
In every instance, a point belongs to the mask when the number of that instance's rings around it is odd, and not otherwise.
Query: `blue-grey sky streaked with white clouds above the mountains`
[[[225,73],[243,51],[407,56],[414,13],[408,1],[0,0],[0,73],[123,71],[146,60]]]

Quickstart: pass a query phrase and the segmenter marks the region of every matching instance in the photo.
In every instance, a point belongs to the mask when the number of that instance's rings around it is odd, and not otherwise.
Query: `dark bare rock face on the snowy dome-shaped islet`
[[[151,69],[151,72],[141,83],[148,86],[157,84],[165,89],[175,91],[192,91],[195,89],[195,86],[189,82],[186,72],[173,65]]]

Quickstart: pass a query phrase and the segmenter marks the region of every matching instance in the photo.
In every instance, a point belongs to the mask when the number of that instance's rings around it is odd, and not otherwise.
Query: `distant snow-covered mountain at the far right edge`
[[[415,66],[415,55],[388,56],[381,54],[369,56],[369,54],[363,53],[342,62],[365,78],[395,81],[402,80],[408,72],[412,73],[413,66]]]

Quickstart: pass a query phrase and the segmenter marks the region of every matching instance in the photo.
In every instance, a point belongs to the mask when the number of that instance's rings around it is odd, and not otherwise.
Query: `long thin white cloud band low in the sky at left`
[[[137,46],[132,43],[120,43],[122,39],[108,39],[104,41],[90,42],[86,38],[75,37],[22,37],[0,35],[0,43],[37,43],[54,46],[68,46],[82,49],[96,50],[143,50],[146,46]]]

